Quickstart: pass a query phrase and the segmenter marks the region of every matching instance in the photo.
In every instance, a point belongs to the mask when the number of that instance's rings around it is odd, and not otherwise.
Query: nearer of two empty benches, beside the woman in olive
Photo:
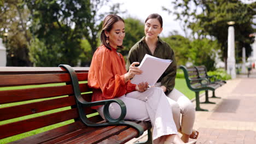
[[[205,102],[203,103],[215,104],[209,101],[208,91],[210,90],[214,93],[215,89],[222,85],[219,83],[211,83],[206,77],[200,77],[199,71],[196,69],[196,67],[186,68],[185,66],[181,65],[179,68],[181,68],[184,72],[184,77],[188,88],[195,92],[196,111],[208,111],[206,109],[201,109],[200,107],[199,92],[205,91]]]

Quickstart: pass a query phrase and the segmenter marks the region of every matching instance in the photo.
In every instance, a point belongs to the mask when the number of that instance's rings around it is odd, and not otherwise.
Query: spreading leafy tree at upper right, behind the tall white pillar
[[[217,39],[222,47],[222,58],[227,59],[228,50],[228,21],[235,21],[236,52],[241,57],[241,49],[246,47],[247,56],[251,53],[253,38],[249,34],[253,33],[253,16],[256,3],[243,4],[238,0],[182,0],[174,1],[174,11],[164,8],[176,14],[177,19],[183,20],[184,25],[191,28],[194,38],[206,38],[207,36]],[[195,6],[195,7],[194,7]]]

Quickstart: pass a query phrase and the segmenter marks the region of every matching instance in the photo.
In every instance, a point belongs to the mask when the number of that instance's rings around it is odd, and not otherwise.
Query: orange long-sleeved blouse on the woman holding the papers
[[[88,85],[93,88],[92,101],[118,98],[135,91],[135,84],[130,80],[125,83],[126,72],[124,58],[117,49],[112,48],[110,51],[104,45],[98,47],[92,57],[88,75]]]

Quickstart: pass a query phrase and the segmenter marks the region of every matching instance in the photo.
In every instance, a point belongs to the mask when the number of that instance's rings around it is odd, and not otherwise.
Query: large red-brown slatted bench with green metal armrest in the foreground
[[[88,70],[68,65],[0,67],[0,143],[125,143],[145,130],[145,143],[152,143],[149,122],[123,120],[123,101],[89,102]],[[110,103],[120,105],[118,119],[109,116]],[[91,109],[96,105],[105,105],[107,122]]]

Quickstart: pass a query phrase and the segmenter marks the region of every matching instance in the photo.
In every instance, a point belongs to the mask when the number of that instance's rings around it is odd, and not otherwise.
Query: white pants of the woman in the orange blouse
[[[150,121],[153,127],[153,142],[164,143],[164,135],[177,134],[176,124],[173,121],[173,100],[167,98],[159,87],[148,88],[145,92],[131,92],[119,99],[126,105],[125,119]],[[103,116],[103,106],[97,110]],[[109,106],[110,116],[118,118],[121,113],[120,106],[116,103]]]

